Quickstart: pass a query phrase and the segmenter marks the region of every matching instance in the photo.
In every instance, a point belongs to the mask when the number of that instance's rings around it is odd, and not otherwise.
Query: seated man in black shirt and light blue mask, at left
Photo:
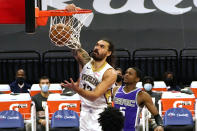
[[[49,86],[50,86],[50,81],[49,78],[46,76],[43,76],[40,78],[39,86],[41,88],[41,92],[38,93],[37,95],[32,97],[32,100],[35,103],[36,106],[36,118],[37,118],[37,131],[45,131],[45,125],[46,125],[46,120],[45,120],[45,106],[46,106],[46,101],[49,96]]]

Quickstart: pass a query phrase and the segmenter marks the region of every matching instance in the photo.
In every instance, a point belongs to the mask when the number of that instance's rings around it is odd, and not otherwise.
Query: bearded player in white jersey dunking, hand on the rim
[[[71,4],[67,10],[76,10]],[[65,81],[62,86],[72,88],[81,96],[80,131],[101,131],[98,123],[99,113],[107,107],[110,91],[117,74],[110,65],[113,44],[108,40],[99,40],[93,50],[92,58],[82,48],[74,50],[75,58],[82,67],[80,79],[71,83]]]

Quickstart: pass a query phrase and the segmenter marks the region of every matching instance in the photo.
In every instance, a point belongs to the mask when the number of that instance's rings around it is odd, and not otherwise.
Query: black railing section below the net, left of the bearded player
[[[62,82],[70,77],[77,80],[79,77],[78,63],[70,50],[49,50],[42,56],[43,75],[48,76],[51,82]]]

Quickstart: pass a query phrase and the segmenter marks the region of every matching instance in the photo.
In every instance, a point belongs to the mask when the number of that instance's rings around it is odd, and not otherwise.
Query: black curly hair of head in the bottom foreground
[[[109,106],[99,115],[98,122],[103,131],[122,131],[124,116],[118,109]]]

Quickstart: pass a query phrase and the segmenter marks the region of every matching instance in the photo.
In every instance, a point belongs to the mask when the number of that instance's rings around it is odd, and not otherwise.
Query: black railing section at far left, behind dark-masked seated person
[[[37,82],[41,72],[40,56],[32,50],[0,51],[0,83],[10,83],[20,68],[26,71],[27,81]]]

